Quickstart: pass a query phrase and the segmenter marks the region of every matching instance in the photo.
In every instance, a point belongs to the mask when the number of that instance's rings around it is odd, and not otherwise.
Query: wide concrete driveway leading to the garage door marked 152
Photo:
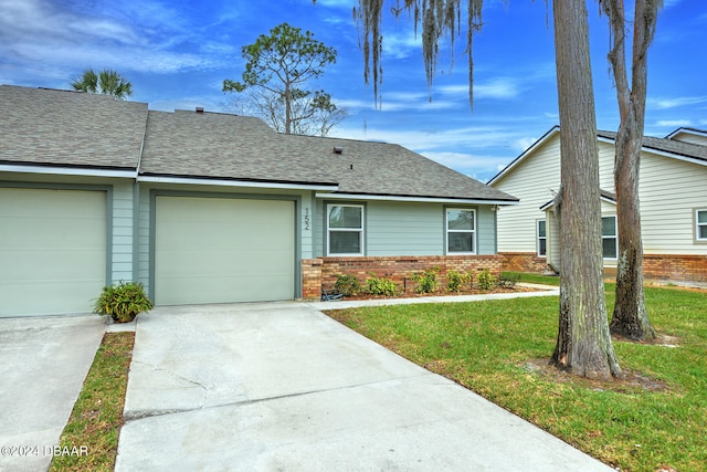
[[[117,471],[610,471],[302,303],[141,315]]]

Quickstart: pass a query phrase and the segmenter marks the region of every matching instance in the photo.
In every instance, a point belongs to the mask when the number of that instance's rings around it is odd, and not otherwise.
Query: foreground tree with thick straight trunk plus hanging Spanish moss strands
[[[382,0],[358,0],[355,17],[362,29],[365,80],[373,71],[374,93],[382,73],[380,31]],[[422,24],[428,85],[434,75],[439,40],[452,40],[461,23],[462,0],[405,0],[415,29]],[[473,98],[473,36],[482,24],[483,0],[466,0],[469,99]],[[589,28],[584,0],[553,2],[560,109],[562,177],[557,207],[562,221],[560,310],[552,364],[594,378],[621,375],[609,334],[601,260],[601,203],[597,124],[589,61]]]

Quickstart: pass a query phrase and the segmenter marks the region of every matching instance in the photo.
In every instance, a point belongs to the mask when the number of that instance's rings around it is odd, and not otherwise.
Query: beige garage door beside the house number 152
[[[155,302],[293,300],[293,201],[158,196]]]

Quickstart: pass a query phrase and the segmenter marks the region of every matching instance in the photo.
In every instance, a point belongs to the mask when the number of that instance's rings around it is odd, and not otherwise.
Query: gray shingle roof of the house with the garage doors
[[[517,200],[399,145],[283,135],[257,118],[148,112],[144,103],[67,91],[2,85],[0,99],[6,118],[0,162],[6,164],[136,169],[139,158],[144,176],[338,185],[339,193],[365,196]]]

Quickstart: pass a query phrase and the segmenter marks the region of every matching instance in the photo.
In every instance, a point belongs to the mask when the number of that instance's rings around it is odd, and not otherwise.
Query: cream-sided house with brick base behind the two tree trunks
[[[599,132],[604,268],[615,273],[615,133]],[[560,129],[553,127],[488,181],[520,204],[498,212],[498,252],[507,270],[559,270]],[[707,282],[707,132],[680,128],[644,137],[639,182],[644,276]]]

